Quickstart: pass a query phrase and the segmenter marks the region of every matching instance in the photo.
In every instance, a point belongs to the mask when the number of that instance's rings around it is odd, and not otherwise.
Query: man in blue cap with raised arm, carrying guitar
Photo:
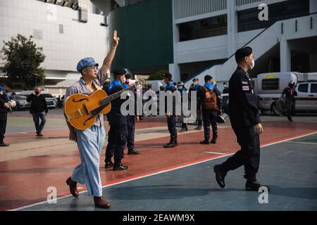
[[[68,87],[65,99],[73,94],[86,94],[89,96],[94,91],[101,89],[101,86],[104,85],[108,78],[107,73],[116,54],[119,40],[115,30],[113,32],[113,46],[108,56],[104,59],[100,70],[98,70],[98,63],[93,58],[80,60],[77,64],[77,71],[82,74],[82,77],[79,82]],[[101,177],[99,174],[100,153],[106,136],[103,115],[97,115],[92,127],[85,130],[75,129],[70,124],[67,116],[66,122],[70,131],[69,139],[77,142],[81,160],[81,164],[74,169],[72,176],[66,181],[68,186],[70,186],[70,193],[74,197],[78,197],[77,182],[86,184],[89,195],[94,196],[95,206],[109,208],[111,206],[110,203],[107,203],[102,198]]]

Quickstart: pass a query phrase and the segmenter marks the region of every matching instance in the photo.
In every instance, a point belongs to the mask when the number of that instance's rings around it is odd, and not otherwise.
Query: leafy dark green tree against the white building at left
[[[22,83],[24,89],[44,84],[44,68],[39,67],[45,59],[42,51],[32,41],[32,36],[27,38],[18,34],[11,37],[10,41],[4,41],[1,49],[1,58],[5,61],[1,70],[10,82]]]

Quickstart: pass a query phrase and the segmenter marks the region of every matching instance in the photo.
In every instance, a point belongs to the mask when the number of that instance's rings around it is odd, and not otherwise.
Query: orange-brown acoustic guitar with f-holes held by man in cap
[[[137,85],[145,84],[144,80],[137,80],[134,85],[108,96],[104,90],[94,91],[90,96],[73,94],[66,98],[64,115],[75,129],[85,130],[92,127],[97,115],[107,114],[111,110],[111,101],[119,98],[124,91],[132,91]]]

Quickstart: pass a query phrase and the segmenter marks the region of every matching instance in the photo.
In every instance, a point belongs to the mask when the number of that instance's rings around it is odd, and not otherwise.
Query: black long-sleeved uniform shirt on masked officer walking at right
[[[251,127],[261,122],[254,81],[239,67],[229,82],[229,113],[232,128]]]

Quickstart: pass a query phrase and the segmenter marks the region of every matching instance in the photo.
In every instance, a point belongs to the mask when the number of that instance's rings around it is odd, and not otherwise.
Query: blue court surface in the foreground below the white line
[[[244,191],[244,169],[216,183],[213,165],[228,156],[104,188],[104,197],[115,211],[218,211],[218,210],[317,210],[317,135],[261,148],[258,180],[271,186],[268,203],[260,204],[257,192]],[[100,210],[91,197],[58,198],[20,210]],[[109,211],[109,210],[106,210]]]

